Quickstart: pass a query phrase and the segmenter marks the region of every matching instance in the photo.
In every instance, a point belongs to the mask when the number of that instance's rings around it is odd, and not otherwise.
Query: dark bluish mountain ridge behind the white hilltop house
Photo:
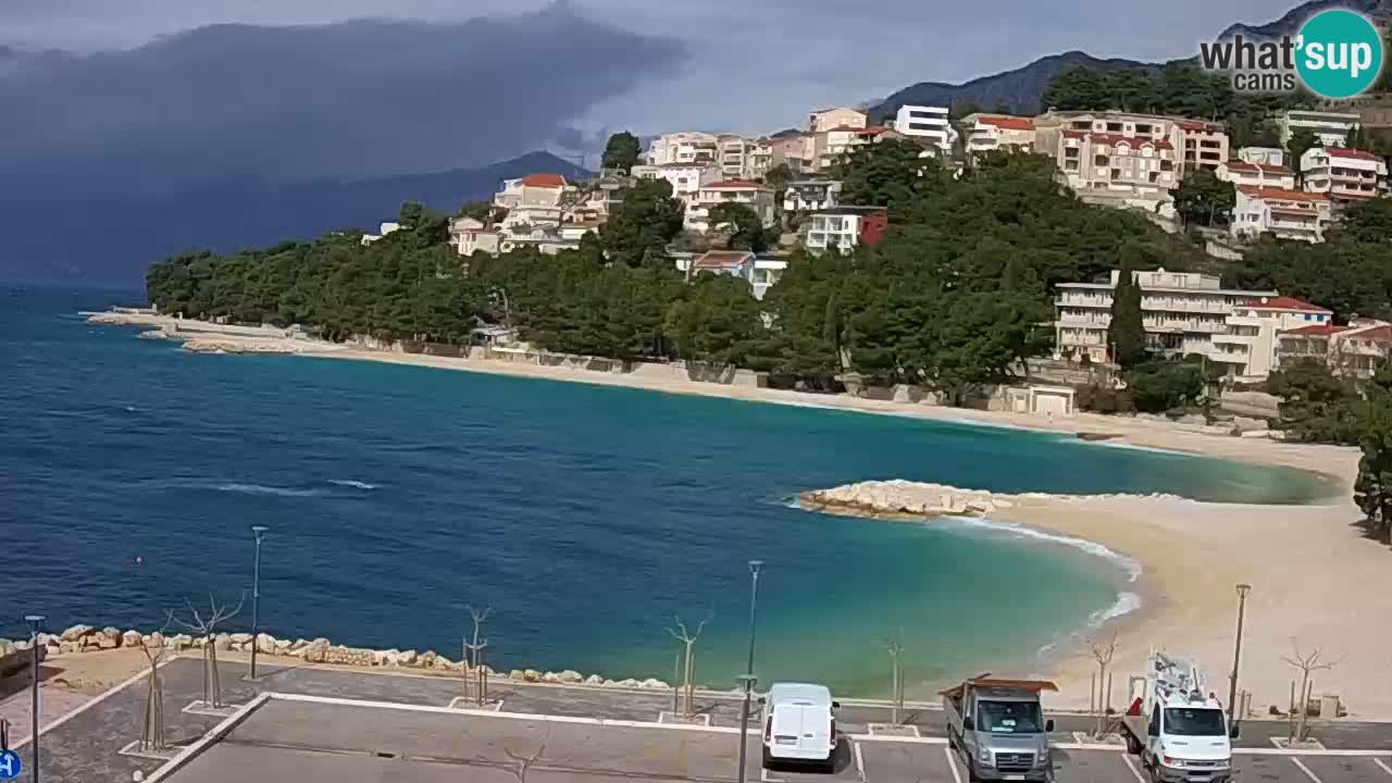
[[[1044,85],[1047,85],[1048,81],[1059,71],[1073,67],[1102,68],[1108,71],[1119,71],[1125,68],[1160,68],[1160,65],[1153,63],[1140,63],[1136,60],[1100,60],[1084,52],[1066,52],[1063,54],[1040,57],[1023,68],[1005,71],[1004,74],[995,74],[991,77],[980,77],[959,85],[945,82],[919,82],[913,86],[901,89],[899,92],[884,99],[884,102],[878,106],[871,107],[870,116],[874,120],[892,117],[894,113],[898,111],[905,103],[923,106],[955,106],[963,102],[976,103],[988,111],[998,103],[1008,103],[1012,111],[1020,114],[1036,114],[1047,109],[1040,106],[1040,95],[1044,92]]]

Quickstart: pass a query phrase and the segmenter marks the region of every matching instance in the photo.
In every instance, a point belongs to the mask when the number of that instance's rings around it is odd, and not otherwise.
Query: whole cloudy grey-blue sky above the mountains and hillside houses
[[[1290,6],[984,7],[0,0],[0,107],[11,109],[0,110],[0,183],[157,191],[361,178],[539,148],[593,153],[622,128],[771,132],[799,124],[809,109],[870,102],[917,81],[963,81],[1070,49],[1189,56],[1235,21],[1265,22]]]

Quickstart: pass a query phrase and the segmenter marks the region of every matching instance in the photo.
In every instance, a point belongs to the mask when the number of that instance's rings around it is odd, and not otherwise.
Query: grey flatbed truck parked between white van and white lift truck
[[[1040,694],[1058,691],[1044,680],[973,677],[941,691],[948,743],[969,780],[1048,780],[1052,775]]]

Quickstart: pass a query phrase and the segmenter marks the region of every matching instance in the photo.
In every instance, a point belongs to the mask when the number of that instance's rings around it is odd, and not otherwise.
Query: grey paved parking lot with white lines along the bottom
[[[699,691],[695,722],[672,720],[671,691],[493,683],[483,708],[450,676],[362,672],[319,666],[269,667],[260,683],[245,666],[224,663],[234,719],[185,712],[199,697],[196,659],[161,669],[166,722],[174,745],[166,758],[121,755],[139,736],[142,677],[82,705],[43,731],[45,780],[88,783],[146,780],[276,782],[331,779],[574,782],[734,780],[739,758],[742,698]],[[665,715],[664,715],[665,713]],[[1055,716],[1054,780],[1147,783],[1136,761],[1116,747],[1080,740],[1094,719]],[[763,783],[966,783],[942,738],[942,715],[910,705],[892,736],[887,705],[842,699],[834,770],[763,769],[757,701],[746,773]],[[1324,751],[1286,752],[1281,722],[1249,722],[1235,752],[1237,783],[1392,783],[1392,724],[1317,724]],[[29,747],[18,748],[28,763]],[[175,757],[177,754],[177,757]],[[174,762],[168,758],[175,757]]]

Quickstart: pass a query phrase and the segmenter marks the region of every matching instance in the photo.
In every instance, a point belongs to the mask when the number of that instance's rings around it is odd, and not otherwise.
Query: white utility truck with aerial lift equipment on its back
[[[1151,652],[1143,694],[1132,694],[1122,718],[1126,750],[1157,783],[1226,783],[1232,779],[1232,738],[1222,705],[1204,690],[1199,669]]]

